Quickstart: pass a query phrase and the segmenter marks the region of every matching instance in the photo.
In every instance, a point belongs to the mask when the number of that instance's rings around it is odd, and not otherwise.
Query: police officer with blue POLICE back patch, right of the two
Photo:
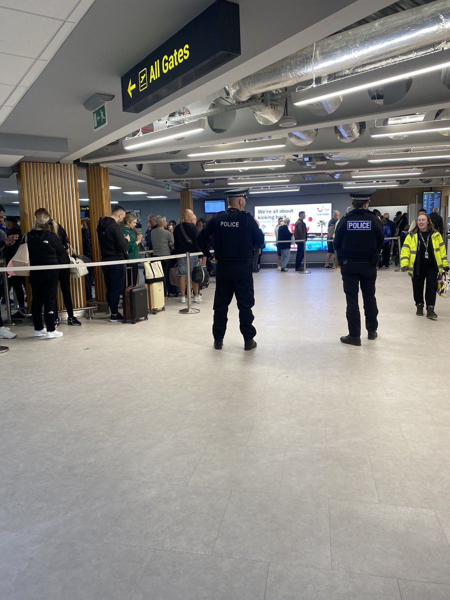
[[[344,292],[347,298],[349,335],[341,337],[341,342],[361,346],[361,316],[358,306],[359,286],[361,286],[364,302],[367,337],[369,340],[374,340],[378,335],[375,281],[380,250],[385,240],[380,219],[368,210],[370,195],[350,195],[353,198],[353,210],[347,212],[339,221],[334,233],[333,244],[335,250],[337,250]]]

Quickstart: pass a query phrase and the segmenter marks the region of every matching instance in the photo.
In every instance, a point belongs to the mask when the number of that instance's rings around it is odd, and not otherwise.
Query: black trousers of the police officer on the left
[[[212,335],[221,340],[227,329],[228,307],[236,296],[239,309],[239,329],[244,340],[253,340],[256,329],[252,325],[254,316],[253,275],[251,260],[243,263],[217,263],[215,272],[214,321]]]

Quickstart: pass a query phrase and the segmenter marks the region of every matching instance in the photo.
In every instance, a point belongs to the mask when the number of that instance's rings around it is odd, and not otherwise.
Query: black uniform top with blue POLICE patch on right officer
[[[380,227],[380,223],[379,218],[373,212],[355,209],[347,213],[338,224],[342,236],[339,257],[365,261],[377,256],[376,227]]]

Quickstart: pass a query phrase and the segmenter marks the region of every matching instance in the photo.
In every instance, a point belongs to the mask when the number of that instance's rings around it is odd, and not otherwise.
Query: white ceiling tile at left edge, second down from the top
[[[38,58],[60,26],[56,19],[0,8],[0,52]]]

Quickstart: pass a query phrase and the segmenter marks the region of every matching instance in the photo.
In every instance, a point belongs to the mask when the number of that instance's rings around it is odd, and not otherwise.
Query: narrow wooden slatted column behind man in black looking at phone
[[[109,172],[105,167],[88,167],[89,215],[91,218],[92,260],[101,260],[98,244],[97,225],[100,217],[111,214],[111,194],[109,191]],[[94,267],[95,299],[106,302],[106,287],[101,267]]]

